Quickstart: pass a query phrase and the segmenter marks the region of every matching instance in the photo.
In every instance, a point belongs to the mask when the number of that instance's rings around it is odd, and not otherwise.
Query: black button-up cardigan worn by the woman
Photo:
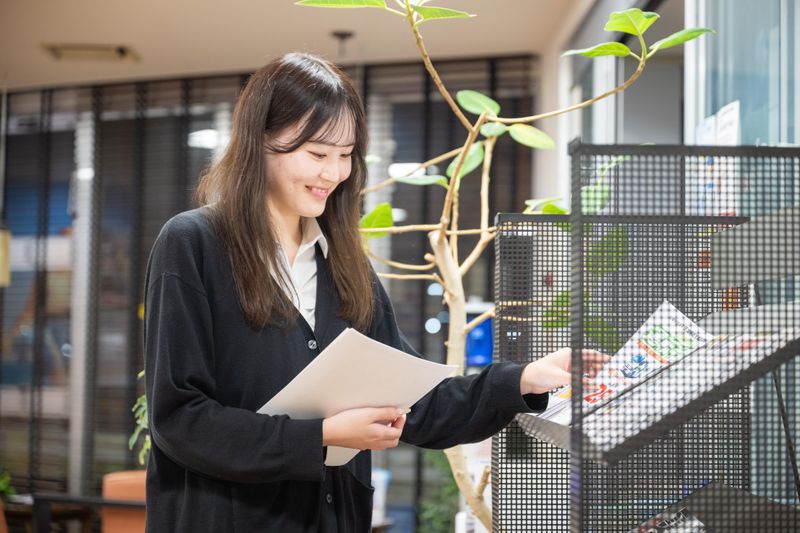
[[[256,413],[350,326],[337,316],[327,261],[317,247],[314,331],[299,314],[291,328],[255,331],[206,216],[200,208],[169,220],[147,267],[145,381],[153,443],[147,531],[369,531],[369,451],[345,466],[325,467],[321,419]],[[416,354],[377,277],[373,290],[376,312],[367,334]],[[402,440],[447,448],[482,440],[519,412],[543,410],[547,395],[520,396],[521,371],[496,363],[445,380],[412,407]]]

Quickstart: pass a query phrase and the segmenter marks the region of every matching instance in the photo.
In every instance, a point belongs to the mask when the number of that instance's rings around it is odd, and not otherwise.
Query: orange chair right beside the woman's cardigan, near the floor
[[[145,501],[145,470],[123,470],[103,476],[103,498]],[[103,533],[142,533],[145,510],[103,507]]]

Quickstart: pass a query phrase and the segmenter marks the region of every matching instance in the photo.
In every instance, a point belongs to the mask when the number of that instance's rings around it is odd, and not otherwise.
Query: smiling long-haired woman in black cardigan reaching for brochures
[[[484,439],[569,382],[561,350],[446,380],[407,416],[397,406],[317,420],[256,413],[347,327],[415,353],[358,233],[366,131],[335,66],[306,54],[269,63],[239,98],[230,144],[199,186],[202,207],[156,239],[148,531],[369,531],[369,450]],[[365,451],[329,468],[331,445]]]

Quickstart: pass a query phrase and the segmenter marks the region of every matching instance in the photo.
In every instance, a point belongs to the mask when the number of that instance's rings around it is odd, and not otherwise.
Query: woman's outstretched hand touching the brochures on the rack
[[[597,375],[610,356],[595,351],[583,350],[583,371],[591,377]],[[541,394],[572,382],[572,349],[561,348],[529,363],[522,371],[519,390],[522,394]]]

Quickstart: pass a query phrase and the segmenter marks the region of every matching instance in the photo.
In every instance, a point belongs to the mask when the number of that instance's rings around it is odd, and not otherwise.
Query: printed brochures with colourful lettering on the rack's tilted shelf
[[[586,387],[583,453],[615,462],[798,351],[800,327],[711,336],[665,302]],[[570,392],[554,396],[544,413],[517,421],[530,436],[570,449]]]

